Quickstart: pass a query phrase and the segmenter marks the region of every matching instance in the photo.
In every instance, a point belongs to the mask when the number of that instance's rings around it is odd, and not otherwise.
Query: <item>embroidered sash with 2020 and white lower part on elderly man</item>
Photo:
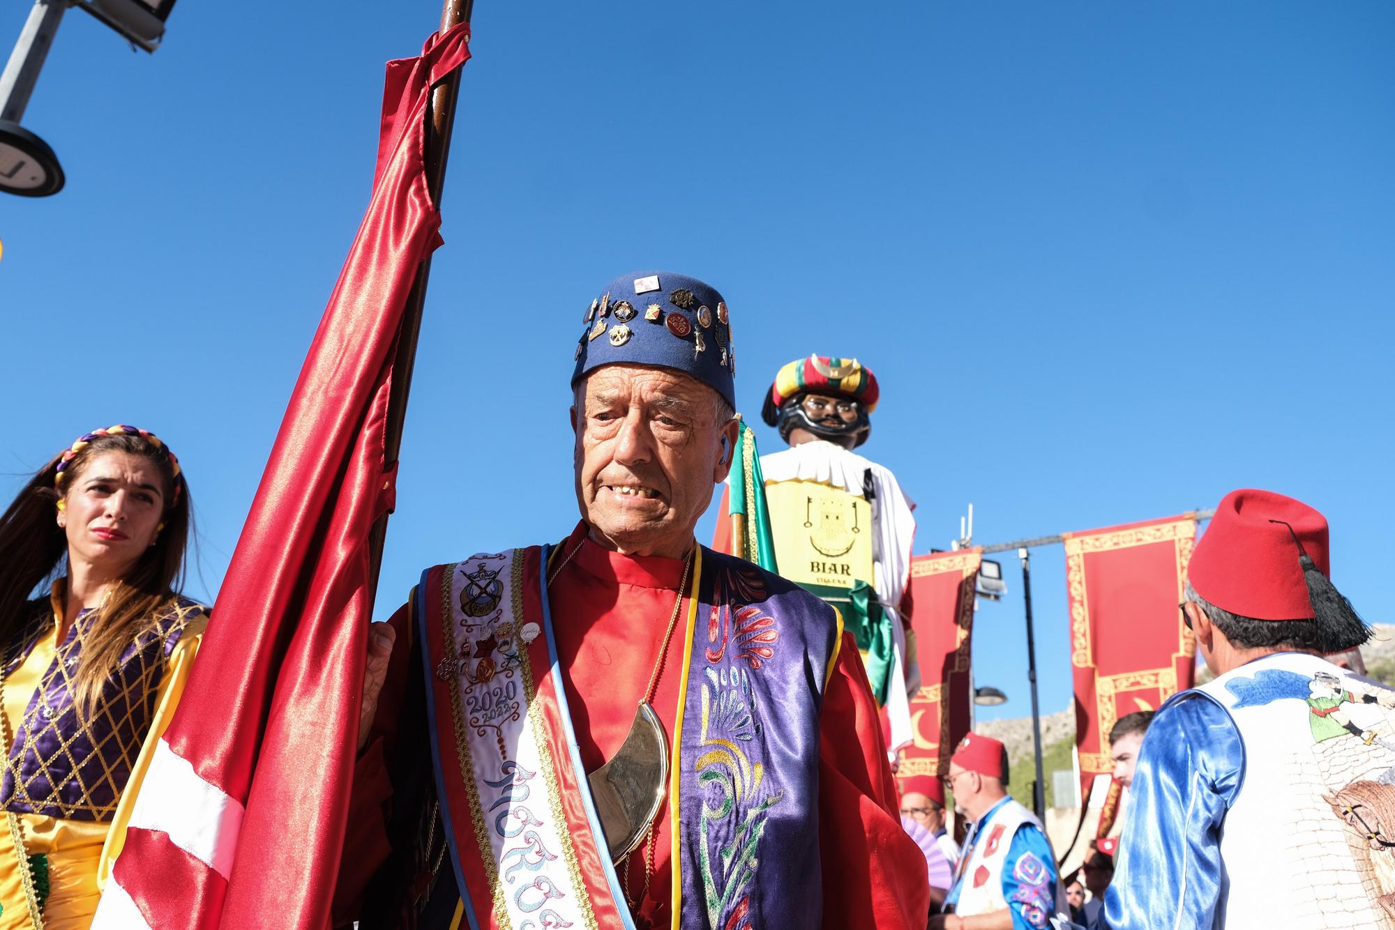
[[[499,926],[596,929],[552,750],[533,707],[527,644],[537,630],[523,623],[522,586],[522,549],[476,555],[444,576],[451,658],[437,676],[451,683],[456,761]]]

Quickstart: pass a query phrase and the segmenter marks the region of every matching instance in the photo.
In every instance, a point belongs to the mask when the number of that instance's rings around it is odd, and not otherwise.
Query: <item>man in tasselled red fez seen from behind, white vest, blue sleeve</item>
[[[1395,927],[1395,692],[1324,658],[1370,637],[1327,535],[1269,491],[1216,508],[1180,605],[1215,679],[1148,726],[1113,930]]]

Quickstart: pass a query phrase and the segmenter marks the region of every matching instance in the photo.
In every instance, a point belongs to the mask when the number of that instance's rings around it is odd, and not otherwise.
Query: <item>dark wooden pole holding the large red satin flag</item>
[[[445,0],[441,7],[441,32],[459,22],[467,22],[474,8],[474,0]],[[460,71],[456,68],[431,92],[431,124],[427,127],[425,169],[427,190],[431,202],[441,206],[441,191],[445,188],[445,166],[451,155],[451,130],[455,127],[455,103],[460,91]],[[407,305],[402,312],[402,328],[398,330],[398,351],[392,360],[392,393],[388,396],[388,416],[384,439],[384,459],[388,468],[398,463],[402,450],[402,425],[407,416],[407,395],[412,392],[412,369],[417,358],[417,337],[421,335],[421,308],[427,300],[427,283],[431,277],[431,257],[421,262],[417,279],[407,294]],[[388,537],[388,514],[384,513],[372,524],[368,535],[368,579],[371,594],[378,591],[378,572],[382,569],[382,547]]]

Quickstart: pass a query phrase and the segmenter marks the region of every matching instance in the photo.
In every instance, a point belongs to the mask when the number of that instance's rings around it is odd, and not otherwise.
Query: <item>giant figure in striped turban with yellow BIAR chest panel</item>
[[[760,416],[790,448],[762,456],[760,471],[778,572],[843,613],[896,750],[911,742],[910,693],[919,687],[905,597],[915,505],[889,468],[855,452],[879,399],[876,376],[857,358],[783,365]],[[730,552],[728,535],[718,523],[713,548]]]

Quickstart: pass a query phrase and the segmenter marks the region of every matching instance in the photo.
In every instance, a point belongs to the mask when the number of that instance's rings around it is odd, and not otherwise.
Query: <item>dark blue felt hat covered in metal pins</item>
[[[674,368],[737,406],[727,303],[711,284],[674,272],[635,272],[605,286],[585,314],[572,385],[601,365]]]

